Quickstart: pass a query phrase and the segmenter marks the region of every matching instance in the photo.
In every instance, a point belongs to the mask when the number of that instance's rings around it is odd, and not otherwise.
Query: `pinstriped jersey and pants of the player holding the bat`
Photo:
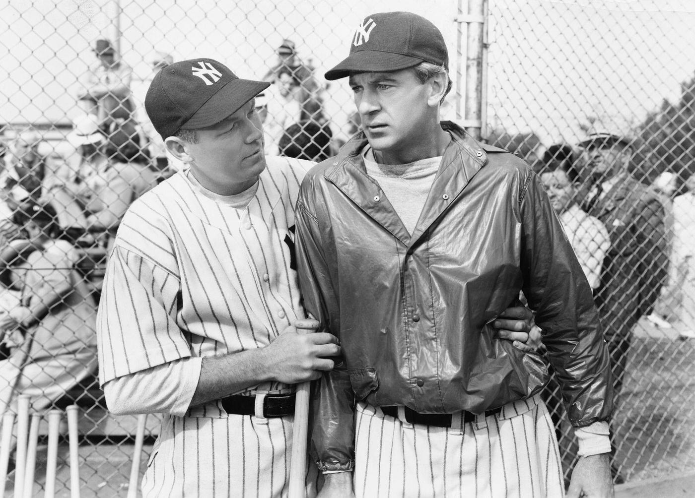
[[[186,173],[133,203],[108,263],[97,317],[101,384],[190,356],[268,345],[303,317],[291,269],[295,201],[308,161],[267,158],[245,209]],[[281,392],[269,382],[256,390]],[[229,415],[217,401],[165,415],[143,495],[281,496],[292,418]]]

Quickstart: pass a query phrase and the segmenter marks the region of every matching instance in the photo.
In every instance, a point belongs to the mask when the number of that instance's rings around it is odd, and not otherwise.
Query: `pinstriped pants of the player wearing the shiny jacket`
[[[562,497],[553,422],[539,395],[452,427],[413,425],[360,403],[358,497]]]

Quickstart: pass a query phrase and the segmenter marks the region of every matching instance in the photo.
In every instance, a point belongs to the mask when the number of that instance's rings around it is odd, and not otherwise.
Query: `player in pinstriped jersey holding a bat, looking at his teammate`
[[[313,163],[264,158],[254,97],[267,86],[201,58],[147,92],[152,124],[188,167],[124,216],[97,317],[110,410],[164,414],[146,497],[286,494],[293,384],[340,353],[333,335],[293,329],[304,318],[293,208]],[[523,310],[508,312],[503,335],[528,339]]]

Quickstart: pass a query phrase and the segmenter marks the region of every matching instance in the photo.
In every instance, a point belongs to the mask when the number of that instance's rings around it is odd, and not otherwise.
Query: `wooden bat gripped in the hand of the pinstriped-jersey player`
[[[297,333],[311,333],[318,329],[316,320],[302,319],[295,322]],[[309,438],[309,390],[311,382],[297,384],[295,395],[295,421],[292,436],[292,459],[290,460],[289,498],[306,496],[306,440]]]

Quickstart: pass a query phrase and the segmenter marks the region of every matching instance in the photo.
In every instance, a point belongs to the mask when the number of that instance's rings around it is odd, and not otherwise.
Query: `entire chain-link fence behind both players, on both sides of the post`
[[[685,0],[484,4],[484,17],[463,0],[0,6],[1,413],[15,412],[20,392],[32,413],[76,404],[83,493],[124,494],[142,420],[106,411],[94,326],[120,218],[182,167],[147,120],[149,82],[193,57],[265,78],[272,85],[256,106],[266,153],[320,160],[359,128],[347,84],[325,81],[325,69],[364,15],[411,10],[450,47],[449,119],[465,117],[469,23],[486,23],[482,137],[539,172],[595,289],[619,379],[616,481],[692,469],[695,9]],[[548,404],[562,412],[552,391]],[[573,440],[558,415],[569,472]],[[157,430],[150,416],[146,453]],[[44,420],[34,492],[51,467],[48,433]],[[67,429],[59,433],[58,492],[70,488]],[[11,469],[15,442],[2,444]]]

